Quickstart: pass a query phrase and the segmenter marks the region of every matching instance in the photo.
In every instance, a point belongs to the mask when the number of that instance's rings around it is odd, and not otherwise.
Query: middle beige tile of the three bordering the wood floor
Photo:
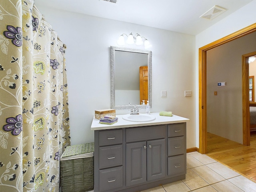
[[[236,176],[240,175],[239,173],[231,170],[230,168],[224,166],[223,164],[221,164],[219,162],[207,164],[206,166],[208,166],[210,169],[214,170],[216,173],[220,174],[225,179],[229,179],[229,178],[236,177]]]

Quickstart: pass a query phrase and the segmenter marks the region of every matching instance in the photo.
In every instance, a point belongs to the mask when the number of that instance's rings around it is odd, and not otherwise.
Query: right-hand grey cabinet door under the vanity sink
[[[147,142],[148,181],[165,176],[165,139]]]

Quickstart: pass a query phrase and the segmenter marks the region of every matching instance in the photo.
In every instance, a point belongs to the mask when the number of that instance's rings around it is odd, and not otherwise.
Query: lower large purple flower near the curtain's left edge
[[[16,136],[22,132],[22,115],[18,114],[16,117],[9,117],[6,119],[6,125],[3,130],[11,131],[12,135]]]

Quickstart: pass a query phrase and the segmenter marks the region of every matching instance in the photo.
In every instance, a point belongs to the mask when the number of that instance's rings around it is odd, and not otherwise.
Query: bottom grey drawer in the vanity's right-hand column
[[[178,155],[173,157],[168,157],[168,175],[182,175],[186,174],[186,155]]]

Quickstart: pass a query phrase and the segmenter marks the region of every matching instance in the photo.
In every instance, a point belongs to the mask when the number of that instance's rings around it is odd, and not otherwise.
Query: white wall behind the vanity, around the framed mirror
[[[166,110],[189,118],[187,148],[196,146],[195,36],[36,6],[67,45],[72,145],[94,141],[94,110],[110,108],[110,46],[117,46],[120,34],[133,32],[153,45],[150,112]],[[161,90],[167,91],[166,98],[160,97]],[[185,90],[192,90],[192,97],[185,98]]]

